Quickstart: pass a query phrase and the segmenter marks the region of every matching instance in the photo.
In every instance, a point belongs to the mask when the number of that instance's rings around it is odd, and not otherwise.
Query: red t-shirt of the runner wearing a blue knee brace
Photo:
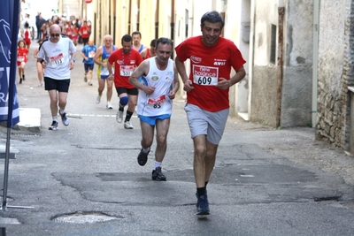
[[[134,72],[135,67],[142,63],[142,56],[135,49],[130,49],[129,53],[123,53],[123,49],[112,52],[108,57],[108,62],[114,64],[114,86],[124,88],[135,88],[129,83],[129,77]]]

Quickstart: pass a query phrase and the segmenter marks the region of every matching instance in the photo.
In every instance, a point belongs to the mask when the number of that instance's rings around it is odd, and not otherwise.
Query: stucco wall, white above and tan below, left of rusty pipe
[[[277,68],[270,63],[271,28],[278,25],[278,1],[256,0],[250,120],[276,126]]]

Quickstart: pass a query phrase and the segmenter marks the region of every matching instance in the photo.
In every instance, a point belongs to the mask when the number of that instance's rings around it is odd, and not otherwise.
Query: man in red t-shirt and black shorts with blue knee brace
[[[133,39],[129,34],[122,37],[121,44],[122,48],[113,51],[108,58],[107,69],[110,72],[108,80],[113,80],[112,66],[114,66],[114,85],[119,96],[119,110],[116,119],[119,123],[123,121],[123,111],[127,105],[124,128],[133,129],[130,118],[137,103],[138,89],[129,83],[129,77],[135,68],[142,63],[142,56],[137,50],[132,49]]]

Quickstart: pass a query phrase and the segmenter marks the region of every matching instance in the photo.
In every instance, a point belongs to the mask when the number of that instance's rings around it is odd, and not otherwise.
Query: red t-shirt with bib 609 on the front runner
[[[246,63],[235,43],[219,37],[208,47],[200,35],[181,42],[175,50],[181,61],[190,59],[189,80],[194,89],[187,93],[187,103],[212,112],[229,108],[228,89],[219,89],[216,84],[219,78],[230,79],[231,67],[237,71]]]

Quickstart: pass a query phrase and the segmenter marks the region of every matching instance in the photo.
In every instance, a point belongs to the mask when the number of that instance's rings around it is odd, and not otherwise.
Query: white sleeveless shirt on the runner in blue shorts
[[[173,101],[168,97],[173,85],[174,72],[173,60],[168,59],[168,65],[164,71],[158,70],[155,57],[150,57],[150,69],[146,77],[142,77],[142,83],[155,87],[151,95],[146,95],[140,90],[138,95],[137,113],[144,117],[156,117],[172,114]]]

